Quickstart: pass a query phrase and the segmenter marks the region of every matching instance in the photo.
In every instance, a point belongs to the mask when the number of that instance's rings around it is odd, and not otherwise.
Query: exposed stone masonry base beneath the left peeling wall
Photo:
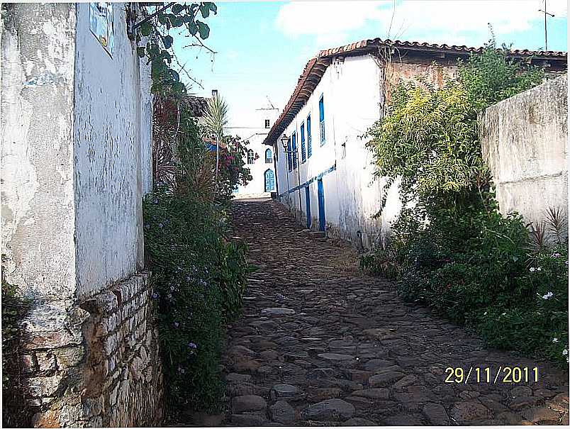
[[[26,339],[35,427],[160,425],[162,367],[149,279],[135,274],[76,308],[83,338],[62,330]]]

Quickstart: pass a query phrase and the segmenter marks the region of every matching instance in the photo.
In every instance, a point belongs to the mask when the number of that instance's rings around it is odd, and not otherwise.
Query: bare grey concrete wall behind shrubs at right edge
[[[568,207],[568,75],[510,97],[479,117],[481,146],[502,213],[543,221]]]

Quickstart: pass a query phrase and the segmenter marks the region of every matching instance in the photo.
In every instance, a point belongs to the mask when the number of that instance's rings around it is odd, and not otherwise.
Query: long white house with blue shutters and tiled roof
[[[362,40],[311,58],[264,144],[276,150],[279,199],[307,228],[369,248],[384,239],[400,210],[397,184],[379,218],[382,179],[374,179],[363,138],[400,79],[441,84],[457,60],[481,48]],[[564,52],[512,51],[513,57],[566,69]],[[531,57],[532,55],[532,57]],[[283,146],[285,145],[285,147]]]

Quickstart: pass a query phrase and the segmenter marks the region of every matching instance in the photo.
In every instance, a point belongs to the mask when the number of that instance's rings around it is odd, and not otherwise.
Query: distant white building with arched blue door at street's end
[[[234,194],[237,198],[271,196],[276,191],[274,150],[263,142],[278,115],[279,109],[267,101],[267,104],[255,109],[252,123],[227,130],[229,134],[237,134],[242,140],[249,141],[245,163],[253,179],[245,186],[238,186]]]

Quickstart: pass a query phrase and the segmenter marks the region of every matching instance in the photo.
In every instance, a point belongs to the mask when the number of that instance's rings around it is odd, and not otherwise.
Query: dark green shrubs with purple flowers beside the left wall
[[[247,247],[228,240],[225,196],[209,194],[212,153],[184,106],[180,117],[176,184],[143,203],[171,418],[188,408],[219,411],[225,324],[238,316],[247,284]]]

